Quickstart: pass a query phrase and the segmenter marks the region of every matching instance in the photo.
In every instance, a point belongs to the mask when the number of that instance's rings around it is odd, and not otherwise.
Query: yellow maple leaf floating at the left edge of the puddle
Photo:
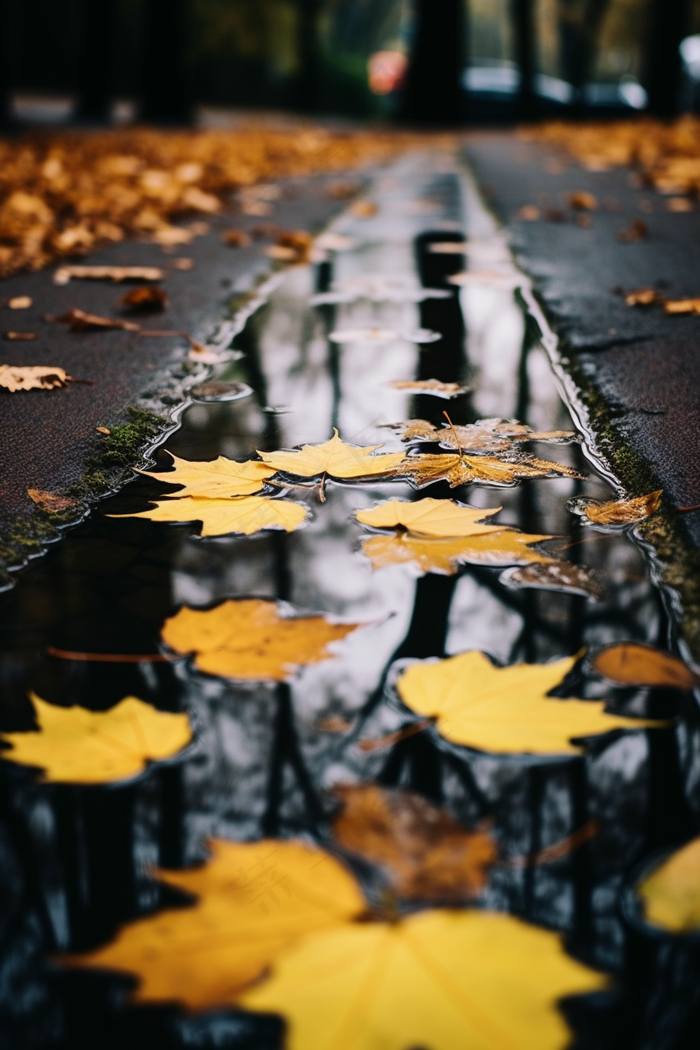
[[[2,758],[44,771],[43,780],[108,783],[136,776],[149,761],[171,758],[192,738],[186,714],[156,711],[127,696],[108,711],[59,708],[29,694],[38,732],[2,733]]]

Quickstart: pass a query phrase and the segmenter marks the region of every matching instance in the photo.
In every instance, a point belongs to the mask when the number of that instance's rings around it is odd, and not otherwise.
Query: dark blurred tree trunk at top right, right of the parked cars
[[[680,94],[678,50],[690,33],[690,0],[651,0],[646,32],[644,87],[655,117],[675,117]]]

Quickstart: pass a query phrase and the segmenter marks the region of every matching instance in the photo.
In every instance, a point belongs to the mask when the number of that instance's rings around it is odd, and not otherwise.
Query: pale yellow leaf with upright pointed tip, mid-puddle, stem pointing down
[[[334,429],[330,441],[318,445],[302,445],[301,448],[276,453],[258,453],[262,462],[282,474],[296,478],[351,479],[372,478],[378,475],[393,475],[403,463],[402,453],[374,456],[381,445],[346,444]]]

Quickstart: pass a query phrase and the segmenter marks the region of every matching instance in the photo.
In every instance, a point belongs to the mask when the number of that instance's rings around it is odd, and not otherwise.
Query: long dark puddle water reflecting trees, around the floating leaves
[[[501,417],[536,432],[571,428],[547,354],[513,293],[517,275],[506,247],[451,159],[430,166],[404,159],[372,198],[376,216],[345,215],[334,225],[346,250],[290,269],[249,319],[234,342],[242,356],[199,392],[168,438],[171,453],[245,459],[326,441],[334,428],[345,441],[397,452],[405,445],[390,424],[440,425],[445,407],[457,424]],[[470,247],[461,252],[465,233]],[[474,280],[459,276],[470,271]],[[382,275],[390,277],[383,291]],[[429,379],[467,390],[442,401],[391,385]],[[636,865],[692,834],[690,730],[607,736],[585,759],[546,761],[452,746],[432,728],[386,748],[357,746],[406,723],[391,689],[396,668],[389,672],[399,659],[482,650],[511,665],[622,639],[665,647],[669,625],[639,547],[629,534],[582,527],[567,509],[573,498],[613,498],[610,487],[579,445],[533,447],[587,479],[441,483],[420,496],[501,506],[500,522],[556,537],[548,549],[595,576],[595,602],[540,589],[528,570],[509,569],[503,580],[503,567],[485,566],[420,579],[404,565],[373,572],[360,550],[369,533],[355,512],[385,498],[415,499],[404,482],[328,482],[323,504],[311,486],[292,489],[310,507],[306,527],[203,540],[196,524],[107,517],[143,510],[162,496],[148,478],[103,503],[0,595],[3,731],[30,728],[29,691],[93,711],[137,696],[191,712],[196,731],[185,761],[126,786],[42,784],[4,763],[0,986],[13,1047],[76,1050],[93,1045],[96,1030],[108,1047],[125,1038],[137,1047],[153,1040],[160,1047],[277,1045],[274,1025],[233,1014],[186,1020],[172,1007],[126,1009],[119,1005],[124,979],[57,972],[46,959],[101,944],[126,920],[170,902],[149,868],[201,861],[211,836],[323,839],[327,790],[358,780],[410,788],[449,805],[467,826],[488,821],[504,857],[536,854],[594,820],[597,834],[555,863],[496,866],[481,904],[565,933],[574,956],[617,976],[618,990],[567,1011],[580,1046],[607,1046],[611,1032],[622,1031],[630,1046],[677,1045],[691,1023],[697,954],[687,949],[681,969],[664,970],[662,950],[623,918],[619,902]],[[158,454],[157,469],[169,463]],[[523,576],[533,586],[523,587]],[[236,685],[164,659],[161,628],[178,606],[247,596],[369,626],[289,685]],[[114,654],[129,660],[114,663]],[[577,696],[614,699],[617,713],[677,711],[661,690],[612,691],[594,680],[577,688]],[[334,726],[352,730],[324,729]],[[658,982],[664,995],[652,1002]],[[654,1043],[650,1032],[663,1034]]]

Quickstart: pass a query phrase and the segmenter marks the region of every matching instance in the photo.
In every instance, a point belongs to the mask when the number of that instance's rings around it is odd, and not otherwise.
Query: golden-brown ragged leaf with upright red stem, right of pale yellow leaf
[[[525,478],[581,478],[573,467],[533,456],[502,460],[494,456],[465,456],[438,453],[408,456],[396,471],[406,475],[419,488],[436,481],[447,481],[452,488],[480,482],[487,485],[514,485]]]

